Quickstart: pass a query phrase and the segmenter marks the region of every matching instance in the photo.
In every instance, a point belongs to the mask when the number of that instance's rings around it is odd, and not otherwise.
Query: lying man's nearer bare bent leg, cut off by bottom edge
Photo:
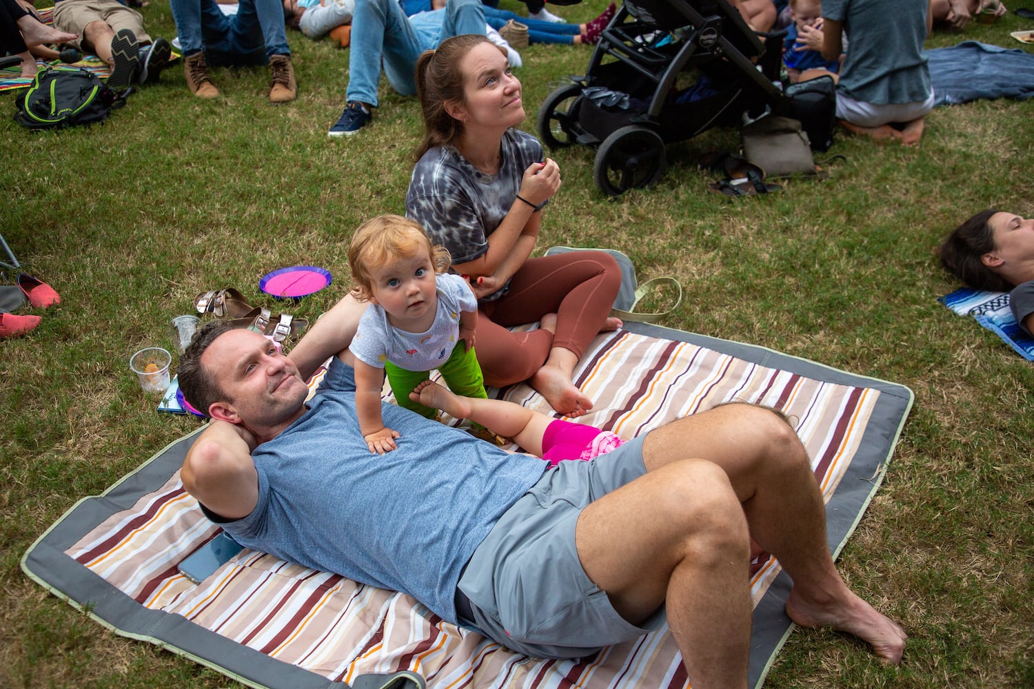
[[[661,466],[592,502],[575,543],[588,577],[633,624],[660,605],[694,689],[743,688],[751,636],[747,521],[704,460]]]

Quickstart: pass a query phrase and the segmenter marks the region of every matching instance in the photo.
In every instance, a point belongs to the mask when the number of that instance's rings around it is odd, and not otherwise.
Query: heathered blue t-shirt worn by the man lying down
[[[382,413],[398,448],[370,452],[355,392],[355,372],[335,357],[309,411],[252,452],[255,508],[222,527],[247,547],[407,593],[456,622],[460,571],[549,465],[393,404]]]

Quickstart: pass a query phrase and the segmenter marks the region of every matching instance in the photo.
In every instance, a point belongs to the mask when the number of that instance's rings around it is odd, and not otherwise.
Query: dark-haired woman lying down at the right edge
[[[970,287],[1008,291],[1016,322],[1034,336],[1034,219],[980,211],[945,238],[941,264]]]

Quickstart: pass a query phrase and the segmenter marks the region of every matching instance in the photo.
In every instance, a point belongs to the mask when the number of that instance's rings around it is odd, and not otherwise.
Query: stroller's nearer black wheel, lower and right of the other
[[[667,160],[664,139],[652,129],[621,127],[604,139],[596,153],[596,183],[611,196],[657,184]]]

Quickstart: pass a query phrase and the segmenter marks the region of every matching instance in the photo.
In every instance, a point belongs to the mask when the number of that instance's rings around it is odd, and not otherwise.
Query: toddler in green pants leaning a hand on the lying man
[[[420,224],[401,216],[367,220],[352,238],[353,294],[370,306],[348,348],[356,357],[359,428],[371,452],[395,449],[399,435],[385,428],[381,414],[386,373],[398,404],[427,418],[436,410],[409,393],[431,369],[458,395],[487,397],[474,352],[478,300],[464,278],[446,272],[451,262]]]

